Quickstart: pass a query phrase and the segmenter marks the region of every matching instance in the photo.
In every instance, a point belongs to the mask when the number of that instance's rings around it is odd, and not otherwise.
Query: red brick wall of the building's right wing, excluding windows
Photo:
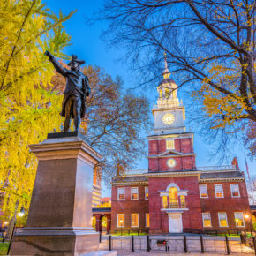
[[[251,215],[245,182],[222,182],[222,183],[203,183],[207,184],[208,198],[200,199],[202,212],[209,212],[211,215],[212,228],[217,230],[236,230],[235,212],[243,212]],[[224,198],[215,198],[215,184],[222,184]],[[239,198],[232,198],[230,184],[239,185]],[[219,226],[218,212],[225,212],[228,218],[228,228]],[[250,229],[250,223],[245,220],[246,229]],[[242,228],[241,228],[242,229]],[[245,228],[243,228],[245,229]]]

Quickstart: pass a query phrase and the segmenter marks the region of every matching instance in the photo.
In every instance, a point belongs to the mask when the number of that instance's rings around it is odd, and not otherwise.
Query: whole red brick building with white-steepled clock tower
[[[111,230],[150,234],[251,229],[244,173],[230,166],[197,168],[193,133],[165,60],[158,101],[152,109],[154,132],[147,136],[148,170],[115,177]]]

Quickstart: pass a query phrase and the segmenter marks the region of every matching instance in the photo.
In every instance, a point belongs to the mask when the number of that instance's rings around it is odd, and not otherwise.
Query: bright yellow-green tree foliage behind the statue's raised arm
[[[28,211],[36,160],[28,145],[59,131],[61,98],[51,91],[52,64],[47,49],[61,50],[70,41],[63,22],[41,0],[0,0],[0,190],[4,219],[20,207]]]

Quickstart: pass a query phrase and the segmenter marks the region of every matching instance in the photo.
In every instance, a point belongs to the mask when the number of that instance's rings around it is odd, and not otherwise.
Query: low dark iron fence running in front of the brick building
[[[250,240],[250,241],[249,241]],[[255,238],[241,243],[231,237],[207,236],[102,236],[100,250],[167,253],[244,253],[256,255]]]

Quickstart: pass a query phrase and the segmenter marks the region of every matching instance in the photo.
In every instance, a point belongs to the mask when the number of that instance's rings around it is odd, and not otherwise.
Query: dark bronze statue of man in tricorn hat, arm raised
[[[71,70],[68,70],[59,64],[49,51],[46,51],[45,55],[49,56],[49,61],[54,65],[56,72],[59,72],[66,78],[61,111],[61,115],[65,117],[64,132],[69,131],[71,118],[74,119],[75,131],[79,131],[81,118],[85,117],[86,96],[89,96],[91,93],[87,76],[79,70],[79,66],[84,64],[85,61],[79,60],[77,56],[72,55],[72,60],[68,64]]]

